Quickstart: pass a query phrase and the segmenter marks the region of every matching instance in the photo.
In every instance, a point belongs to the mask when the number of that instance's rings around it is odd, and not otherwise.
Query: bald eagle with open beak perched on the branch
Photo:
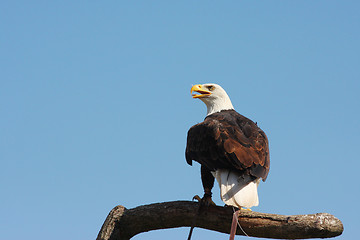
[[[257,123],[234,110],[221,86],[197,84],[191,94],[207,107],[205,120],[188,131],[185,152],[189,165],[193,160],[201,164],[201,202],[214,204],[211,190],[216,179],[226,205],[257,206],[260,179],[266,180],[270,168],[267,136]]]

